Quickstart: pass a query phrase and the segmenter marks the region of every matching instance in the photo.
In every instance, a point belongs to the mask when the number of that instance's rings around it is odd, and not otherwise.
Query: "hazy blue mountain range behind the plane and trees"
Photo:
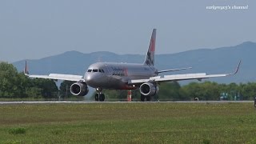
[[[146,51],[146,49],[145,49]],[[182,70],[166,74],[186,74],[206,72],[220,74],[233,72],[242,60],[242,65],[237,75],[226,78],[210,78],[214,82],[255,82],[256,64],[255,42],[243,42],[238,46],[222,47],[217,49],[189,50],[177,54],[157,54],[155,66],[158,70],[174,69],[192,66],[191,70]],[[114,54],[111,52],[94,52],[82,54],[78,51],[68,51],[42,59],[28,60],[30,74],[84,74],[87,67],[94,62],[132,62],[142,63],[145,55],[139,54]],[[14,62],[14,66],[22,71],[25,60]],[[191,81],[189,81],[191,82]]]

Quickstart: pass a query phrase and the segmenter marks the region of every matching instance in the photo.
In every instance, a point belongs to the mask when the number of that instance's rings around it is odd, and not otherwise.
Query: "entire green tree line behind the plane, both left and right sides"
[[[63,81],[58,89],[56,82],[43,78],[28,78],[7,62],[0,62],[0,98],[72,98],[70,85]],[[216,82],[163,82],[154,100],[253,100],[256,83],[218,84]],[[107,99],[126,100],[127,90],[103,90]],[[94,99],[94,94],[92,94]],[[139,90],[132,90],[132,98],[140,99]]]

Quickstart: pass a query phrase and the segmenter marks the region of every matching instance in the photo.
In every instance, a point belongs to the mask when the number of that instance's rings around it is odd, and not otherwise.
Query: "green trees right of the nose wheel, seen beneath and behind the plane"
[[[154,100],[191,101],[191,100],[254,100],[256,83],[218,84],[217,82],[190,82],[180,86],[178,82],[163,82]],[[106,98],[126,100],[127,90],[104,90]],[[132,99],[139,101],[139,90],[132,90]]]

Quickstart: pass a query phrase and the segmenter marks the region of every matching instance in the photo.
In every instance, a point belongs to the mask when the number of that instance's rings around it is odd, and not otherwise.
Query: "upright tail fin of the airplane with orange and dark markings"
[[[147,50],[147,53],[146,53],[144,65],[154,66],[154,51],[155,51],[156,32],[157,32],[156,29],[154,29],[152,32],[151,39],[150,39],[150,46],[149,46],[149,50]]]

